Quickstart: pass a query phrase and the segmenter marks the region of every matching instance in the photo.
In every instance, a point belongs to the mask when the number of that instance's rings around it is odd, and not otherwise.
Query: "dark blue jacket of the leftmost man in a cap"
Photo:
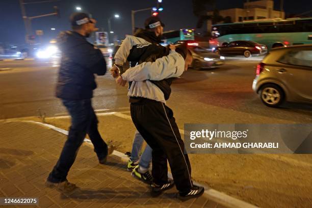
[[[96,88],[94,74],[106,73],[106,62],[99,49],[79,33],[60,33],[58,45],[62,52],[56,96],[62,99],[88,99]]]

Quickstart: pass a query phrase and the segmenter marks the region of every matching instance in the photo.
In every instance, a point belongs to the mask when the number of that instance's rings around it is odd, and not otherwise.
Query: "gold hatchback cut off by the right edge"
[[[312,103],[312,44],[280,47],[257,65],[252,89],[269,107],[284,100]]]

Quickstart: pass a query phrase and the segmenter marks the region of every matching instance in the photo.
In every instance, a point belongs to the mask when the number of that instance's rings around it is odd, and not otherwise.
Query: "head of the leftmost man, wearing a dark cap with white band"
[[[96,20],[89,17],[88,14],[75,12],[70,16],[71,29],[86,38],[90,37],[91,33],[96,31]]]

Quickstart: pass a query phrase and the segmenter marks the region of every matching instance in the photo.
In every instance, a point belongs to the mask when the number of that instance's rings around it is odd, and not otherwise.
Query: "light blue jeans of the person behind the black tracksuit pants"
[[[151,162],[152,149],[150,148],[150,146],[148,144],[146,144],[146,147],[145,147],[145,149],[141,155],[141,158],[140,158],[139,154],[140,154],[140,151],[142,149],[143,141],[144,141],[144,139],[141,136],[141,134],[138,131],[136,131],[135,138],[133,140],[130,160],[133,162],[137,162],[138,160],[140,160],[139,165],[142,168],[148,168],[149,164]]]

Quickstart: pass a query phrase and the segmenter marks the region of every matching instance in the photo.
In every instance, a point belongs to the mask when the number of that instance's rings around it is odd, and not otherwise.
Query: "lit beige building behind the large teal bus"
[[[208,13],[209,15],[212,12]],[[274,10],[273,0],[260,0],[255,2],[244,3],[244,9],[233,8],[219,11],[220,16],[231,17],[232,22],[252,21],[257,19],[273,19],[273,18],[285,18],[283,11]],[[207,21],[207,29],[211,30],[211,21]]]

